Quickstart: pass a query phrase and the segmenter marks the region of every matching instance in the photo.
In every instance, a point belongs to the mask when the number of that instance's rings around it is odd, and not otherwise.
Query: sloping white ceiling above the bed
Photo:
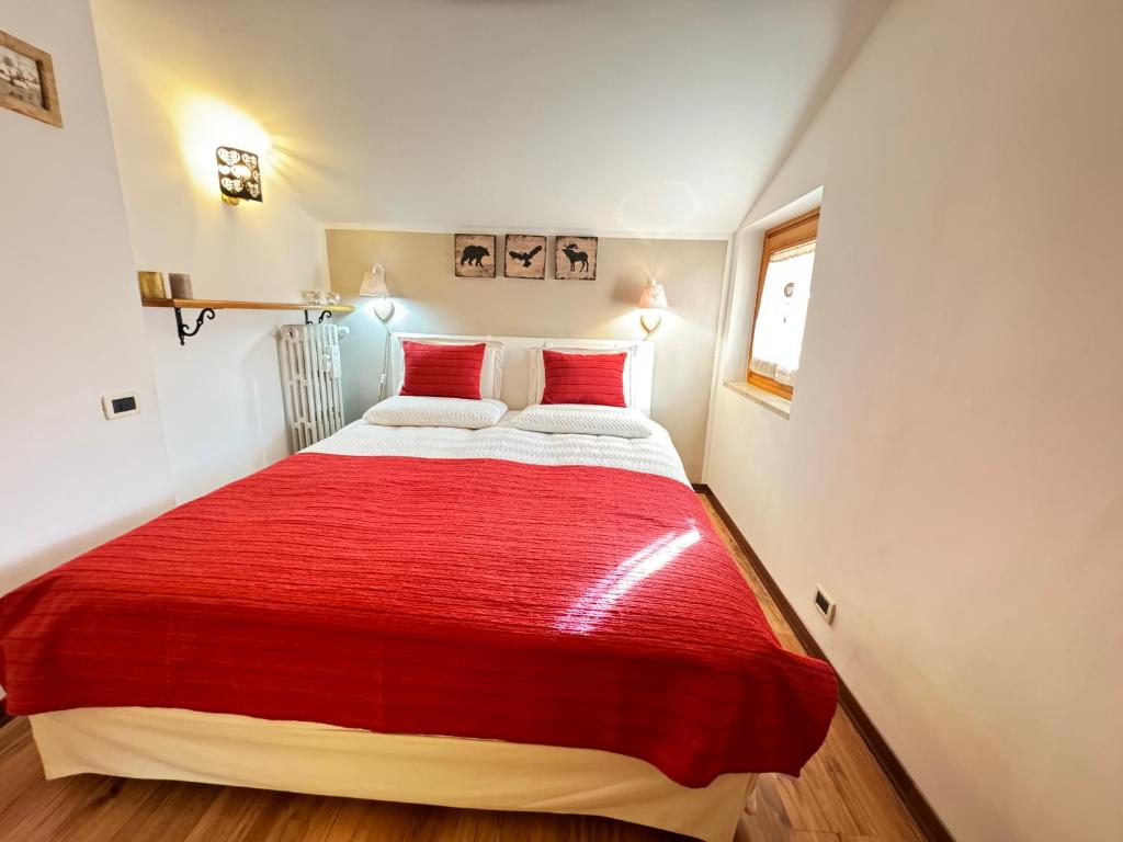
[[[326,225],[725,236],[887,3],[93,9],[102,49],[253,116]]]

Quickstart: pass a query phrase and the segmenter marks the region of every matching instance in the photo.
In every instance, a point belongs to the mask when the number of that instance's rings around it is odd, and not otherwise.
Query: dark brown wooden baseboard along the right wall
[[[822,648],[815,642],[815,639],[811,637],[811,632],[807,631],[807,626],[804,625],[803,620],[800,615],[795,613],[795,608],[792,607],[792,603],[787,601],[787,597],[780,592],[779,587],[776,585],[776,580],[768,573],[768,569],[764,566],[760,557],[752,549],[752,544],[749,543],[748,539],[737,528],[733,523],[733,519],[730,518],[729,512],[725,506],[721,504],[721,501],[714,495],[707,485],[704,483],[695,483],[694,489],[699,494],[704,494],[706,498],[713,504],[714,510],[718,515],[724,521],[725,525],[729,528],[730,533],[733,536],[733,540],[737,541],[741,551],[745,552],[746,557],[749,559],[749,564],[752,565],[752,569],[756,571],[760,580],[765,583],[765,587],[772,594],[773,600],[776,601],[776,605],[779,606],[780,613],[784,614],[784,619],[787,620],[787,624],[792,626],[792,631],[795,632],[795,637],[798,638],[800,643],[807,651],[809,655],[824,660],[830,663],[830,660],[823,655]],[[832,665],[833,666],[833,665]],[[838,670],[836,670],[838,675]],[[839,678],[839,704],[842,710],[846,711],[850,721],[853,722],[855,727],[858,733],[861,734],[861,739],[865,740],[866,745],[869,748],[870,753],[874,759],[880,765],[882,769],[885,771],[885,776],[889,779],[893,788],[897,790],[897,795],[901,796],[901,800],[904,802],[905,807],[912,814],[913,821],[920,827],[921,832],[930,840],[930,842],[955,842],[955,838],[944,827],[943,822],[932,809],[932,805],[928,803],[923,794],[916,788],[916,784],[913,782],[912,777],[905,770],[905,767],[897,759],[897,756],[893,753],[893,749],[882,736],[877,726],[870,721],[869,715],[862,710],[858,699],[855,698],[853,693],[850,688],[846,686],[846,683]]]

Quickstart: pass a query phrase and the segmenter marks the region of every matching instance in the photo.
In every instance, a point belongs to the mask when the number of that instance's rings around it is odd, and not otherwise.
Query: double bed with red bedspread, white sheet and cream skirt
[[[514,410],[533,355],[574,345],[487,341]],[[646,413],[654,350],[629,347]],[[355,422],[0,600],[0,683],[46,775],[731,839],[757,775],[821,744],[833,674],[779,647],[666,430],[512,415]]]

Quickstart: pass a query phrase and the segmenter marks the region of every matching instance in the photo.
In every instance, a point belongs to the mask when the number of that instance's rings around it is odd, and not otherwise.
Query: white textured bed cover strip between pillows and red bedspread
[[[593,465],[655,474],[690,485],[670,433],[650,421],[646,439],[530,432],[511,427],[509,412],[494,427],[382,427],[355,421],[303,452],[339,456],[414,456],[430,459],[506,459],[527,465]]]

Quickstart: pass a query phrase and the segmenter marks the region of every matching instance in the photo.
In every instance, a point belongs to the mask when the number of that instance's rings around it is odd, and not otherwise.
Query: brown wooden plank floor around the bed
[[[707,504],[709,507],[709,504]],[[710,510],[780,642],[792,630]],[[751,842],[922,842],[900,799],[841,712],[796,780],[764,776]],[[46,781],[28,723],[0,727],[2,842],[667,842],[681,839],[608,818],[489,813],[347,798],[80,775]]]

